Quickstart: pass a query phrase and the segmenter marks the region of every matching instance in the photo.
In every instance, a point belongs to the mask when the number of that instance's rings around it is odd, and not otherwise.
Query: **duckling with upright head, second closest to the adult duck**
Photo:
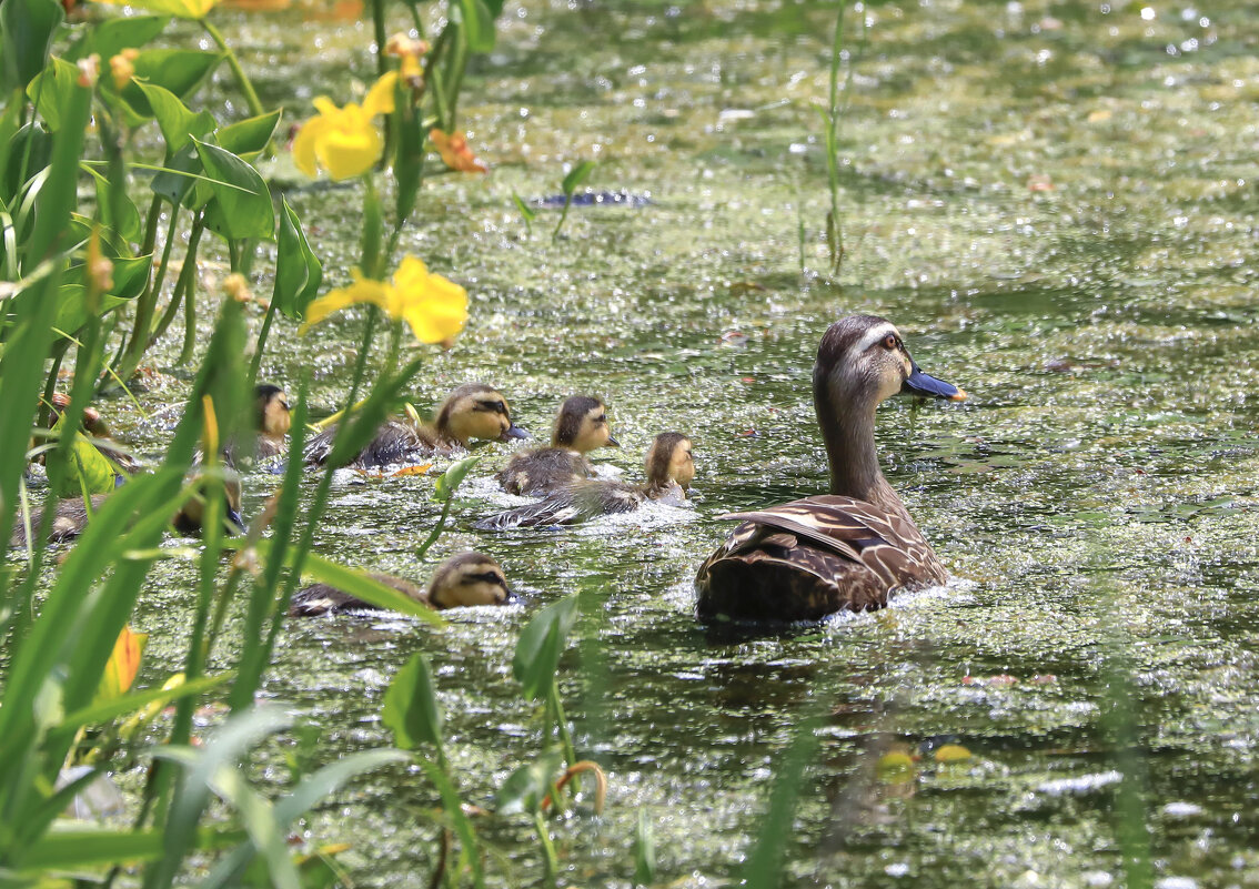
[[[598,398],[573,395],[559,408],[550,447],[512,456],[499,473],[499,484],[507,494],[540,497],[594,475],[585,455],[599,447],[621,447],[612,437],[607,408]]]

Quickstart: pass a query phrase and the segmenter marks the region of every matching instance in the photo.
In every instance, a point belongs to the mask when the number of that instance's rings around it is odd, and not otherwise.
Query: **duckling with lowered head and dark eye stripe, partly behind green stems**
[[[336,426],[315,436],[306,446],[306,462],[326,462],[332,455],[335,438]],[[350,462],[365,468],[414,462],[434,453],[466,448],[473,438],[529,438],[528,432],[511,422],[511,409],[502,393],[483,383],[465,383],[451,392],[432,424],[422,426],[409,419],[385,422],[376,431],[375,438]]]

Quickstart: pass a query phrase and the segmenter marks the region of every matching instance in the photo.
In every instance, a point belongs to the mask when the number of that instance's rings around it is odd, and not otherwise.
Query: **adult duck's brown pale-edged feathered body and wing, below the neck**
[[[703,620],[810,621],[944,579],[912,521],[864,500],[806,497],[721,518],[744,521],[695,577]]]

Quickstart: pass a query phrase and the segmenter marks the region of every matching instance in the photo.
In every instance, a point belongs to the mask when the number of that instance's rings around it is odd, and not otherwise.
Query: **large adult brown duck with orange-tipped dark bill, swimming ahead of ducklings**
[[[832,324],[813,365],[831,494],[720,516],[743,524],[695,575],[701,621],[816,621],[881,608],[896,591],[946,580],[944,565],[879,468],[875,408],[899,393],[967,398],[924,374],[886,319],[854,315]]]

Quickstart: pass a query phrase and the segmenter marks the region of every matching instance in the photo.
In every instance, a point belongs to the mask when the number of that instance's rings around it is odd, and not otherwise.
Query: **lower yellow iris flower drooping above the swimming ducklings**
[[[468,320],[467,291],[429,272],[421,259],[407,257],[389,283],[364,278],[355,269],[353,285],[334,290],[307,306],[301,332],[332,312],[360,302],[379,306],[394,321],[405,321],[421,343],[453,340]]]

